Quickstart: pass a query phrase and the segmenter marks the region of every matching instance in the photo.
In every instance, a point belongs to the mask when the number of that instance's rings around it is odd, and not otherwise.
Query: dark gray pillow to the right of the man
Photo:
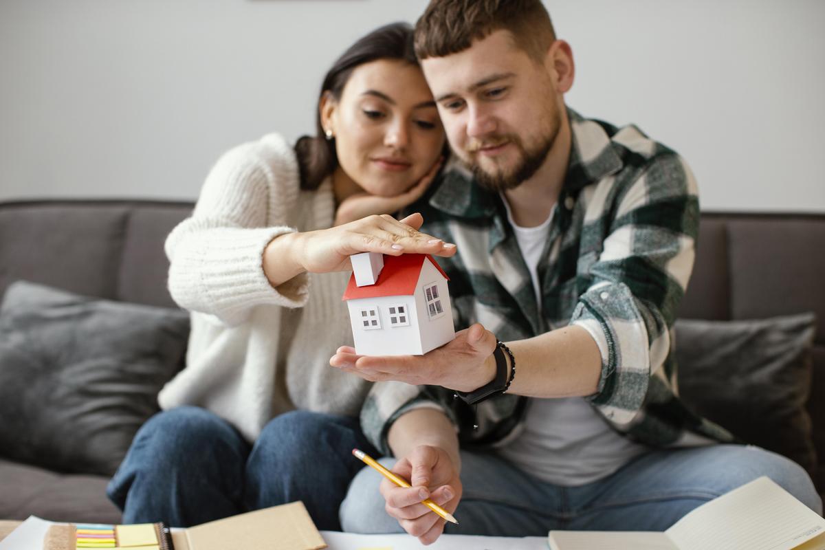
[[[679,393],[688,407],[750,444],[783,454],[813,475],[805,409],[816,317],[676,321]]]

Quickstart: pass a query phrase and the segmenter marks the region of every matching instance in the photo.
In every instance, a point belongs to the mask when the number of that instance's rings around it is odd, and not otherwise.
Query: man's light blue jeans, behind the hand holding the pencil
[[[394,459],[380,461],[388,468]],[[461,453],[464,496],[459,525],[446,533],[544,537],[549,529],[663,531],[695,507],[760,476],[822,514],[822,501],[798,464],[764,449],[711,445],[654,450],[618,472],[580,487],[530,476],[493,453]],[[402,532],[384,511],[381,477],[364,468],[341,506],[345,531]]]

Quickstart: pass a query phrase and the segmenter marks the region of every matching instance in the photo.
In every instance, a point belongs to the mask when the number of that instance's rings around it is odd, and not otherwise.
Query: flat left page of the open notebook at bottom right
[[[550,531],[550,550],[679,550],[664,533],[650,531]]]

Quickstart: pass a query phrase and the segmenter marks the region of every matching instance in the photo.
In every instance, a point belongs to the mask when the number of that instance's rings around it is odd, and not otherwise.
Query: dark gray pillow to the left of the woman
[[[0,306],[0,455],[111,475],[180,368],[188,315],[18,281]]]

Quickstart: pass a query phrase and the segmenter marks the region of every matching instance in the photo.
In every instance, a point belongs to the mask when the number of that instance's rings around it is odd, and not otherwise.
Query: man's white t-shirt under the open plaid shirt
[[[541,311],[538,266],[556,209],[539,226],[522,228],[513,222],[504,195],[502,200]],[[595,482],[648,450],[610,428],[583,397],[531,397],[525,414],[524,431],[498,453],[516,467],[555,485],[573,487]]]

